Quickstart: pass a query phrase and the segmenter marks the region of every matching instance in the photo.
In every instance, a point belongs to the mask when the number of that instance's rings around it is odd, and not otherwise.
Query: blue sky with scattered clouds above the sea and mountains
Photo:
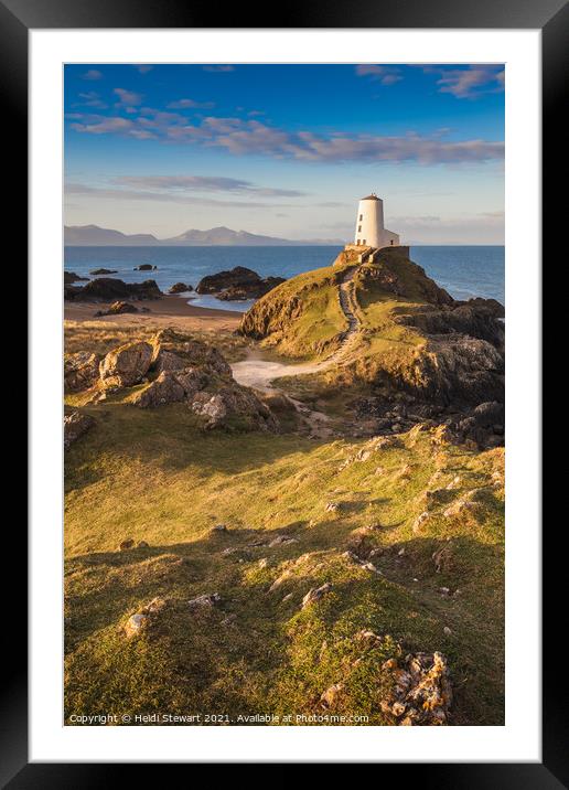
[[[502,244],[502,65],[65,66],[65,223]]]

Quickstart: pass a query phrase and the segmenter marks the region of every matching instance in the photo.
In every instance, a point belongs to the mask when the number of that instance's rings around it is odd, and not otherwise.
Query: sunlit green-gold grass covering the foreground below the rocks
[[[342,681],[339,712],[386,724],[380,665],[401,649],[449,656],[453,724],[503,723],[504,492],[492,478],[503,471],[502,450],[441,446],[436,431],[414,429],[400,447],[359,461],[373,444],[203,433],[181,405],[86,410],[97,425],[66,453],[67,720],[322,713],[320,695]],[[457,477],[414,533],[425,492]],[[443,515],[477,489],[474,508]],[[329,502],[340,510],[326,512]],[[229,532],[213,536],[218,523]],[[383,575],[342,556],[354,531],[372,524],[366,540],[385,549],[373,561]],[[297,542],[249,545],[284,533]],[[149,547],[117,551],[128,537]],[[436,573],[431,556],[442,547]],[[325,581],[332,592],[301,610],[305,592]],[[441,597],[442,586],[460,594]],[[213,591],[222,601],[210,611],[185,605]],[[157,596],[172,604],[128,640],[120,628]],[[362,628],[384,642],[354,669]]]

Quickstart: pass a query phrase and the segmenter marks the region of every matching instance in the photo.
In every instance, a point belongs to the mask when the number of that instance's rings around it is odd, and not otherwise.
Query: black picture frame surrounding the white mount
[[[341,3],[334,0],[290,0],[272,11],[257,4],[190,3],[187,0],[0,0],[0,74],[4,94],[4,175],[11,178],[11,234],[19,239],[22,255],[28,237],[26,139],[28,139],[28,32],[31,29],[74,28],[404,28],[404,29],[539,29],[543,36],[543,238],[547,247],[558,241],[565,227],[563,201],[558,201],[558,173],[567,147],[561,124],[563,83],[569,51],[569,12],[563,0],[364,0]],[[224,24],[219,25],[219,19]],[[563,211],[563,213],[566,210]],[[559,253],[556,249],[556,258]],[[554,259],[554,258],[552,258]],[[8,523],[8,522],[6,522]],[[552,524],[555,527],[555,523]],[[555,530],[554,530],[555,532]],[[9,534],[8,534],[9,533]],[[8,552],[18,558],[21,573],[10,584],[10,600],[3,607],[3,631],[9,640],[3,651],[1,679],[0,781],[2,787],[95,788],[132,781],[137,766],[119,764],[29,764],[26,679],[26,584],[23,573],[26,535],[14,523],[6,531]],[[406,781],[421,787],[551,788],[569,787],[568,715],[562,704],[565,680],[560,665],[558,601],[565,600],[565,563],[556,551],[556,535],[544,534],[544,656],[543,656],[543,761],[519,764],[406,764]],[[4,557],[8,556],[4,548]],[[565,585],[563,585],[565,587]],[[561,629],[562,630],[562,629]],[[523,656],[519,656],[523,661]],[[452,756],[450,756],[452,758]],[[262,760],[259,759],[259,762]],[[372,760],[371,760],[372,761]],[[158,778],[163,766],[144,765],[144,779]],[[183,766],[182,766],[183,768]],[[402,766],[383,765],[385,771],[400,772]],[[127,773],[128,771],[128,773]]]

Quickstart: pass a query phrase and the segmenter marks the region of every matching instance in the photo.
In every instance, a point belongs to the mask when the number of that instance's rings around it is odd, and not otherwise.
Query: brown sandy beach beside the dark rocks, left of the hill
[[[64,318],[66,321],[96,321],[114,324],[157,324],[180,327],[187,330],[235,330],[240,322],[241,313],[232,310],[214,310],[193,307],[179,296],[164,296],[137,302],[137,307],[147,308],[149,312],[128,312],[117,316],[95,317],[97,310],[107,310],[110,302],[73,302],[65,301]]]

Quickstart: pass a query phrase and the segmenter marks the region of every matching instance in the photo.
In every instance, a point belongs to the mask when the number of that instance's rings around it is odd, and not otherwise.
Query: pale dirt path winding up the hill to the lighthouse
[[[244,384],[261,392],[286,393],[280,389],[273,382],[276,378],[281,376],[302,376],[310,373],[319,373],[320,371],[326,370],[332,364],[341,361],[350,351],[350,346],[355,339],[359,330],[359,319],[356,316],[356,299],[354,292],[354,276],[357,270],[357,266],[352,267],[346,271],[339,288],[340,307],[344,316],[347,319],[347,329],[345,330],[340,348],[334,353],[322,362],[304,362],[304,363],[289,363],[279,362],[277,360],[270,360],[264,357],[262,352],[258,349],[250,349],[247,359],[241,362],[234,362],[232,371],[235,381],[239,384]],[[314,412],[309,409],[305,404],[300,401],[291,398],[287,395],[289,401],[294,404],[297,412],[301,417],[309,424],[313,436],[324,438],[332,434],[330,426],[330,417],[322,412]]]

